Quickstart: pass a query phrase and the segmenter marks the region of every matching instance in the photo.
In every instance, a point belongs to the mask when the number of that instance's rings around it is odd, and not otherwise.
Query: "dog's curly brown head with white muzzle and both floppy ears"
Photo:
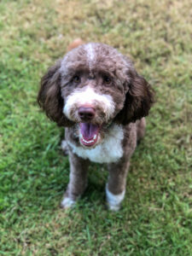
[[[112,122],[127,125],[148,115],[148,82],[131,61],[106,44],[72,49],[41,81],[38,103],[58,125],[79,125],[79,141],[94,147]]]

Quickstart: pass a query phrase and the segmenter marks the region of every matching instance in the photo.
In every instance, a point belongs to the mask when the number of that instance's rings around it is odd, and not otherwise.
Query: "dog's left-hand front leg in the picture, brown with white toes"
[[[80,195],[84,193],[87,184],[87,170],[89,160],[80,158],[77,154],[69,151],[70,179],[67,191],[61,201],[61,207],[72,207]]]

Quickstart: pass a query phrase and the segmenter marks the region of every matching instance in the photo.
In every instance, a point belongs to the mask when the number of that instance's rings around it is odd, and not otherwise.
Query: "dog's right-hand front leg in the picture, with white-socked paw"
[[[106,184],[106,196],[108,208],[118,211],[121,201],[125,196],[126,176],[130,166],[129,160],[123,157],[117,163],[108,165],[108,183]]]

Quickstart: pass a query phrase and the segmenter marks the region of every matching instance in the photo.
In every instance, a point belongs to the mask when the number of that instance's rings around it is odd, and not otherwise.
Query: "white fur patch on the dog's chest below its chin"
[[[84,159],[89,159],[96,163],[113,163],[119,160],[123,155],[122,140],[124,132],[121,125],[113,125],[105,135],[102,143],[96,148],[76,147],[73,143],[68,142],[73,149],[73,153]]]

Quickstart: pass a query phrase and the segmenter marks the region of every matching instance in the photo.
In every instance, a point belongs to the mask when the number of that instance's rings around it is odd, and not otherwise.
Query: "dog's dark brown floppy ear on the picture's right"
[[[125,96],[124,108],[117,115],[117,120],[123,125],[135,122],[148,115],[154,103],[154,90],[150,84],[134,68],[129,70],[128,91]]]

